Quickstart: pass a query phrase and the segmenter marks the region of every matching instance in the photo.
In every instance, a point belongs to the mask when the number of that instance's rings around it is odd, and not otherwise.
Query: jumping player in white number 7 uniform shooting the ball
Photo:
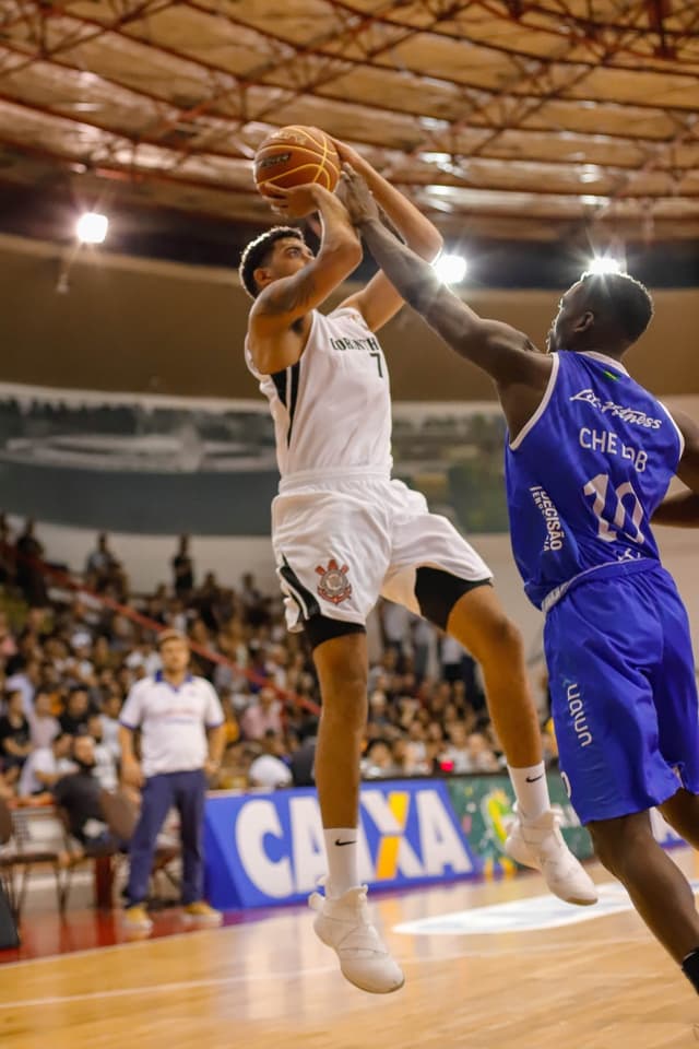
[[[406,243],[434,259],[441,237],[398,190],[343,143]],[[289,629],[305,629],[320,682],[316,782],[329,877],[313,894],[315,928],[344,976],[376,993],[403,973],[369,922],[357,874],[359,757],[367,717],[366,617],[379,594],[455,637],[483,668],[490,716],[518,795],[508,839],[557,895],[596,900],[550,810],[522,641],[478,554],[425,498],[391,480],[391,403],[375,337],[403,299],[377,273],[327,316],[317,309],[357,267],[362,247],[337,197],[319,186],[280,191],[277,213],[318,211],[313,257],[299,229],[276,227],[246,248],[240,278],[254,299],[246,360],[270,401],[281,473],[272,542]]]

